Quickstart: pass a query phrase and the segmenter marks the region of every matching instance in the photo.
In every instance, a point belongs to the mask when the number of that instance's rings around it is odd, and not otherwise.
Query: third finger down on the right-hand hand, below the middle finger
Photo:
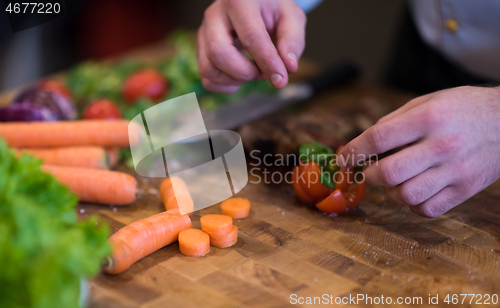
[[[389,199],[406,204],[419,205],[441,191],[450,183],[449,172],[443,167],[432,167],[408,181],[387,187]]]

